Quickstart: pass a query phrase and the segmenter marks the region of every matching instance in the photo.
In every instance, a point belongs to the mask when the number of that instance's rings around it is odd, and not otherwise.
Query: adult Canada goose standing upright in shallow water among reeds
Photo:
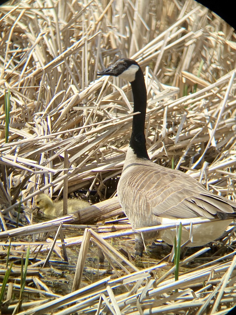
[[[133,93],[132,134],[126,153],[117,194],[121,207],[132,228],[184,222],[199,218],[211,221],[193,226],[193,242],[188,246],[202,246],[219,238],[233,218],[236,203],[214,195],[191,176],[160,166],[149,159],[144,135],[147,92],[143,72],[132,59],[120,59],[98,75],[111,75],[131,83]],[[181,219],[181,220],[180,220]],[[143,234],[145,243],[161,238],[173,245],[175,229]],[[183,227],[181,243],[189,238],[189,226]],[[140,233],[135,235],[136,255],[142,256],[144,245]]]

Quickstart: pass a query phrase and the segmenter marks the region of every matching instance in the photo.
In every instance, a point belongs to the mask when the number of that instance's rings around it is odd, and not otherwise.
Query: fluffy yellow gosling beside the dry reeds
[[[36,208],[42,210],[45,215],[58,217],[63,215],[63,200],[53,202],[52,199],[41,193],[35,198]],[[68,199],[67,201],[67,214],[76,212],[89,206],[89,203],[81,199]]]

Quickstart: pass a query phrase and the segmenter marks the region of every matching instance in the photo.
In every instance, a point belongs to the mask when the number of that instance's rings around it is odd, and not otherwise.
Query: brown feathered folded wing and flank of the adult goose
[[[150,215],[177,219],[236,216],[233,201],[207,191],[197,180],[181,171],[151,161],[126,167],[117,188],[121,203],[127,203],[121,204],[122,207],[134,212],[149,209]]]

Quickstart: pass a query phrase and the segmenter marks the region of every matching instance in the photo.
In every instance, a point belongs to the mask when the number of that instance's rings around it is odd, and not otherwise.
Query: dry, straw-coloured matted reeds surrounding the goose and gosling
[[[29,243],[30,259],[37,244],[42,252],[49,247],[59,256],[63,247],[65,258],[65,247],[82,241],[74,231],[74,238],[65,238],[62,245],[63,229],[72,227],[65,223],[102,221],[121,212],[115,187],[131,133],[132,93],[127,82],[96,75],[121,57],[138,61],[145,74],[151,159],[182,169],[214,193],[236,200],[235,32],[219,17],[192,0],[13,0],[1,6],[0,21],[3,258],[9,246],[9,259],[14,260]],[[26,208],[39,192],[59,198],[81,189],[95,190],[102,203],[79,216],[32,224]],[[26,210],[16,228],[21,205]],[[106,232],[98,225],[85,231],[80,265],[82,272],[91,238],[117,278],[93,280],[60,296],[39,279],[39,264],[47,263],[49,252],[43,261],[28,266],[27,302],[11,302],[12,293],[20,292],[19,279],[14,283],[20,268],[13,264],[10,275],[6,273],[4,311],[199,315],[226,314],[235,305],[233,226],[226,233],[229,237],[213,246],[223,245],[220,251],[204,258],[204,264],[190,268],[189,262],[209,247],[180,261],[188,268],[175,281],[171,263],[153,262],[142,269],[104,240],[121,237],[125,246],[124,236],[133,231],[126,221],[117,222],[105,225]],[[54,230],[60,240],[55,238],[53,246],[39,241],[38,233]],[[6,267],[4,263],[3,274]],[[34,286],[28,285],[31,282]]]

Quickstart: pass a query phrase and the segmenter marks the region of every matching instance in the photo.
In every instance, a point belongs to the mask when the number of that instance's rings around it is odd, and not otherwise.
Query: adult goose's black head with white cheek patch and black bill
[[[98,72],[99,76],[114,76],[121,79],[133,82],[136,78],[136,73],[141,71],[138,63],[135,60],[123,58],[117,60],[114,65],[109,68]]]

